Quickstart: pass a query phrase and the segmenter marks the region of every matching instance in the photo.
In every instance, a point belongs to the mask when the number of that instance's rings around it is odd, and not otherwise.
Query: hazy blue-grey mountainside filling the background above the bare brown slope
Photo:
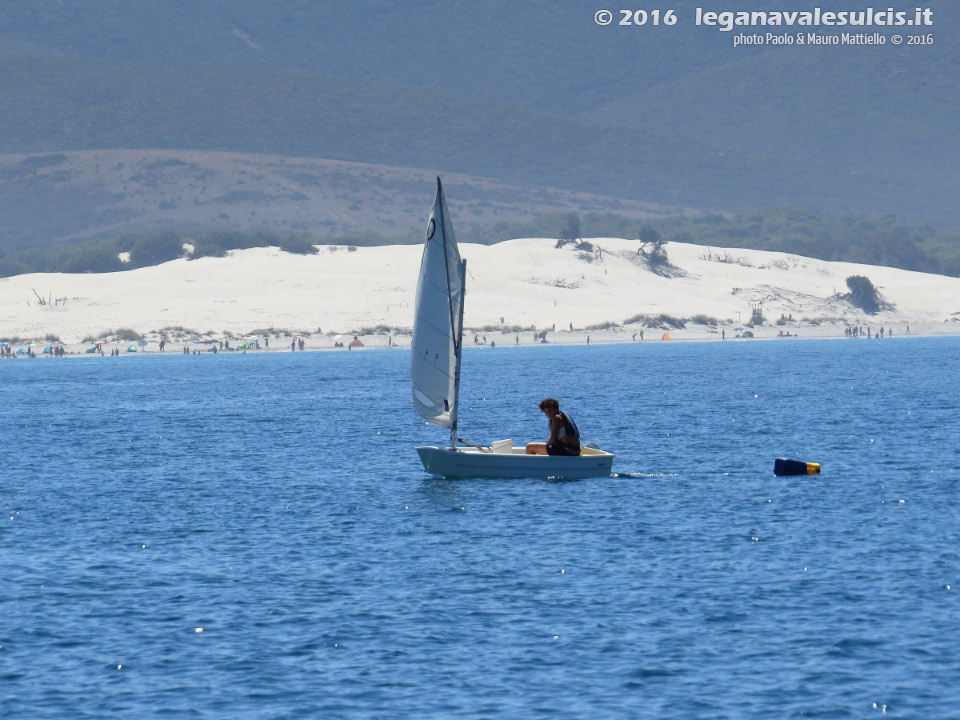
[[[960,222],[953,4],[925,5],[933,45],[873,48],[734,48],[732,33],[693,24],[696,6],[676,3],[675,26],[641,28],[598,27],[579,0],[110,1],[95,12],[6,0],[0,153],[276,154],[698,209]],[[76,234],[63,232],[71,214],[98,203],[16,169],[20,159],[0,168],[0,243],[42,241],[45,224],[48,241]],[[245,192],[265,191],[248,178]],[[34,205],[44,217],[30,223]]]

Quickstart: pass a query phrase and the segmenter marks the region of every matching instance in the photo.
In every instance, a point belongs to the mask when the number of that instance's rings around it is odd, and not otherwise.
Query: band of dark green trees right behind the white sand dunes
[[[522,223],[458,227],[461,242],[494,244],[515,237],[557,237],[558,244],[580,244],[583,238],[638,238],[640,248],[654,262],[666,261],[666,242],[678,241],[721,248],[749,248],[794,253],[827,261],[857,262],[933,272],[960,277],[960,228],[937,229],[927,223],[901,223],[892,216],[841,215],[821,217],[798,208],[773,208],[733,216],[720,213],[672,215],[639,220],[613,213],[551,214]],[[279,247],[309,254],[315,245],[386,245],[423,242],[423,230],[387,237],[372,232],[337,237],[267,229],[164,231],[82,244],[57,244],[4,253],[0,249],[0,277],[31,272],[99,273],[155,265],[184,256],[183,245],[193,246],[189,257],[222,257],[230,250]],[[129,261],[119,255],[129,253]]]

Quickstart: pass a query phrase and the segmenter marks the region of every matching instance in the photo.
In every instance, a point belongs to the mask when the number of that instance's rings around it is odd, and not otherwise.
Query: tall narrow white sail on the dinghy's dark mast
[[[428,422],[451,428],[451,446],[456,441],[465,268],[438,177],[417,283],[410,378],[413,406]]]

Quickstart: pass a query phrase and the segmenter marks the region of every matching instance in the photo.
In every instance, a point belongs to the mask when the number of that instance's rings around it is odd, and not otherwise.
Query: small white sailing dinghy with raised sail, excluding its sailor
[[[427,422],[450,430],[450,446],[418,447],[424,469],[446,477],[609,475],[614,456],[594,447],[582,447],[576,457],[527,455],[525,447],[515,448],[511,440],[484,447],[457,437],[466,275],[467,261],[460,257],[438,177],[417,283],[410,379],[413,406]],[[458,446],[458,440],[466,445]]]

